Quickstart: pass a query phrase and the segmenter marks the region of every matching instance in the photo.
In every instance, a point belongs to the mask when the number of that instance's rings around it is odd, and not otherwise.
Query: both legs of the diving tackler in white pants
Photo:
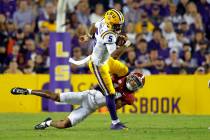
[[[62,97],[60,97],[60,94],[51,92],[51,91],[44,91],[44,90],[31,90],[31,89],[25,89],[25,88],[12,88],[11,93],[13,95],[36,95],[41,96],[44,98],[48,98],[54,101],[63,101],[68,100],[68,102],[72,102],[72,104],[82,104],[84,100],[84,95],[87,95],[89,91],[84,91],[81,93],[76,92],[66,92],[62,93]],[[82,95],[82,96],[81,96]],[[96,110],[96,109],[95,109]],[[73,110],[71,114],[66,117],[63,120],[52,120],[50,117],[42,121],[41,123],[37,124],[35,126],[35,129],[45,129],[49,126],[63,129],[75,126],[77,123],[83,121],[86,117],[88,117],[92,112],[95,110],[88,109],[85,107],[79,107],[76,110]]]

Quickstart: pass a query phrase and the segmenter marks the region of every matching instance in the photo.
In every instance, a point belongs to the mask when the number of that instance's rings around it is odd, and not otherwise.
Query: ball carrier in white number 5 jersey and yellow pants
[[[128,40],[119,39],[121,38],[119,33],[122,30],[123,24],[124,16],[120,11],[115,9],[108,10],[105,13],[104,19],[95,23],[94,36],[96,44],[93,47],[92,54],[81,61],[70,59],[71,63],[78,65],[89,60],[89,68],[97,78],[101,89],[104,91],[106,105],[112,119],[111,126],[117,126],[120,129],[127,127],[120,122],[116,113],[116,91],[112,83],[111,75],[122,77],[128,74],[127,66],[112,57],[113,54],[120,54],[125,46],[130,45]],[[119,46],[121,47],[118,49]]]

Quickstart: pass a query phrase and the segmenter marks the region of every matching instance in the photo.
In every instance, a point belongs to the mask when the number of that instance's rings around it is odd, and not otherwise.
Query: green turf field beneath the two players
[[[128,131],[109,130],[108,115],[92,115],[75,128],[34,130],[47,116],[68,113],[1,113],[0,140],[210,140],[210,116],[120,115]]]

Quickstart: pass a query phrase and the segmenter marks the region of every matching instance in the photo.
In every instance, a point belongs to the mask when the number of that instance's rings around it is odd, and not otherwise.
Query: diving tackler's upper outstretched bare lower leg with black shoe
[[[12,88],[11,93],[13,95],[36,95],[40,97],[44,97],[47,99],[51,99],[53,101],[60,102],[60,96],[58,93],[54,93],[48,90],[31,90],[31,89],[26,89],[26,88]]]

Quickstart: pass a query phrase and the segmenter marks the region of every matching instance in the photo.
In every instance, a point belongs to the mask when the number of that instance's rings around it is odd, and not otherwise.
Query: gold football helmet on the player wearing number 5
[[[107,27],[112,31],[121,31],[122,25],[124,23],[124,16],[123,14],[115,9],[110,9],[105,13],[104,16],[105,23]]]

